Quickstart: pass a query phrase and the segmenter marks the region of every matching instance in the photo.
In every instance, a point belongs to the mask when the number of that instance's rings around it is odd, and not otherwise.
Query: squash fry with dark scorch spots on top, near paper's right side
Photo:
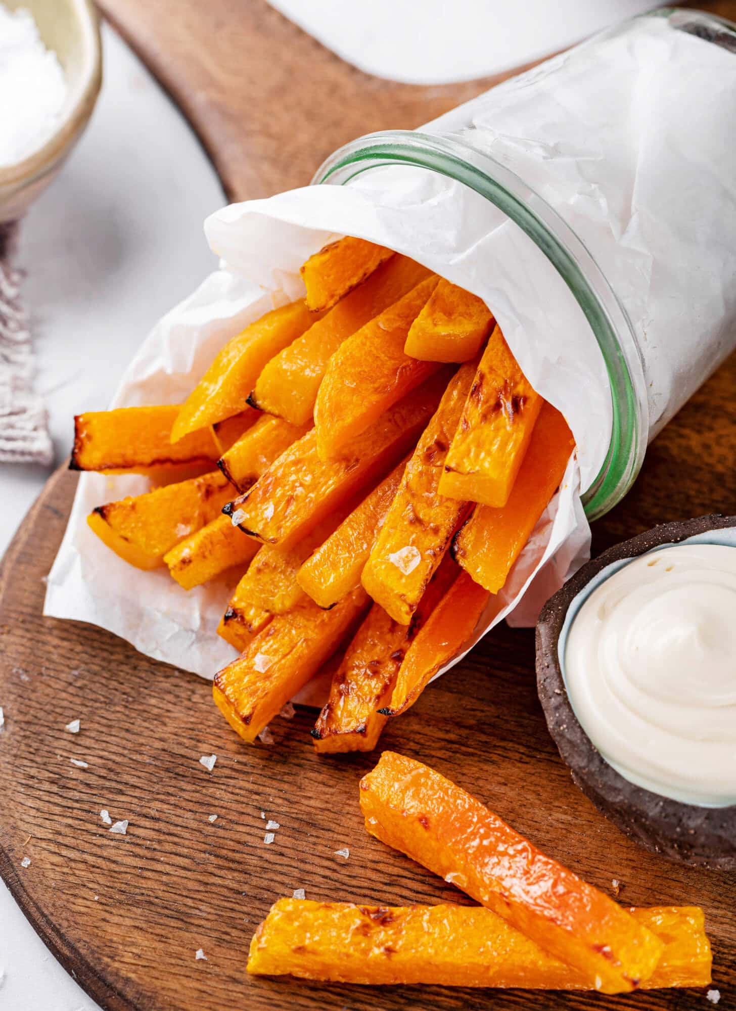
[[[440,493],[505,505],[543,402],[496,327],[447,454]]]

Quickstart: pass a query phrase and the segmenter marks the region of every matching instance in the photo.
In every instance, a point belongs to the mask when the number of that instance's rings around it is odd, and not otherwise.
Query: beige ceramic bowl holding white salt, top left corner
[[[102,82],[102,45],[92,0],[5,0],[33,15],[47,49],[64,68],[69,91],[56,133],[16,165],[0,167],[0,223],[23,214],[55,177],[87,125]]]

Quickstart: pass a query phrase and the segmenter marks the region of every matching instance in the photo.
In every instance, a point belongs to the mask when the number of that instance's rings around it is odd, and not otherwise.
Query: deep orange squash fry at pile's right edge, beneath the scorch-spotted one
[[[502,509],[477,505],[455,536],[456,561],[489,592],[497,593],[503,586],[559,486],[574,448],[564,418],[545,403],[508,503]]]

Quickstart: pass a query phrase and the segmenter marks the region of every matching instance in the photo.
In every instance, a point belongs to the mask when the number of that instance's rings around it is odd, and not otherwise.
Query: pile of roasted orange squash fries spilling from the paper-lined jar
[[[314,745],[370,750],[492,613],[574,444],[476,296],[350,237],[302,276],[184,404],[78,416],[71,466],[151,476],[88,520],[130,564],[241,577],[213,691],[245,740],[342,650]]]

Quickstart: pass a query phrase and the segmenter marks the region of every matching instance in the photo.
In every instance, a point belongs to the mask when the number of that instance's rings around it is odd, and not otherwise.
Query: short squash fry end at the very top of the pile
[[[392,256],[385,246],[352,236],[325,246],[301,266],[307,308],[312,312],[332,308]]]

